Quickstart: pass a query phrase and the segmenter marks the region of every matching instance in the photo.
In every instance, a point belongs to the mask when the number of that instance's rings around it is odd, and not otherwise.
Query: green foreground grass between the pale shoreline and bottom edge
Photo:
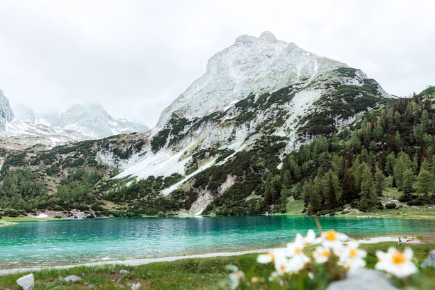
[[[389,246],[396,243],[377,243],[361,245],[368,252],[366,259],[368,268],[373,268],[377,262],[376,250],[386,251]],[[431,244],[409,245],[414,250],[416,264],[420,264],[434,248]],[[143,266],[79,266],[64,270],[44,270],[34,272],[35,290],[42,289],[131,289],[129,284],[140,282],[141,289],[214,289],[217,282],[227,277],[224,267],[228,264],[238,266],[248,271],[255,266],[256,275],[268,275],[272,266],[256,263],[256,254],[236,257],[217,257],[204,259],[183,259],[173,262],[161,262]],[[119,271],[125,269],[130,273],[121,275]],[[0,289],[19,289],[16,280],[24,274],[0,276]],[[61,278],[68,275],[78,275],[82,280],[75,284],[62,282]],[[411,283],[417,289],[432,290],[435,284],[435,269],[423,269],[413,277]]]

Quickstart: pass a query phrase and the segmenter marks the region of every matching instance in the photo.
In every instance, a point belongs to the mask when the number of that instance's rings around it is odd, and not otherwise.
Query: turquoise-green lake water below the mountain
[[[434,220],[320,218],[320,223],[352,237],[435,229]],[[311,228],[313,218],[290,216],[26,222],[0,227],[0,268],[267,248]]]

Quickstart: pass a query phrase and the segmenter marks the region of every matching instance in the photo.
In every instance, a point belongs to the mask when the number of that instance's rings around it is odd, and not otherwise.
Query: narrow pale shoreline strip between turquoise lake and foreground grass
[[[395,236],[376,236],[366,239],[358,239],[357,242],[361,244],[372,244],[372,243],[382,243],[382,242],[396,242],[397,237]],[[420,239],[416,239],[415,237],[407,237],[402,238],[404,243],[409,244],[421,244],[423,243]],[[197,254],[197,255],[183,255],[183,256],[172,256],[172,257],[160,257],[160,258],[138,258],[138,259],[124,259],[124,260],[111,260],[111,261],[97,261],[91,263],[84,264],[67,264],[67,265],[54,265],[54,266],[35,266],[35,267],[22,267],[22,268],[10,268],[10,269],[1,269],[0,276],[3,275],[13,275],[17,273],[28,273],[34,271],[42,271],[42,270],[60,270],[60,269],[69,269],[69,268],[77,268],[77,267],[92,267],[92,266],[104,266],[104,265],[119,265],[119,266],[141,266],[145,264],[158,263],[164,261],[178,261],[181,259],[197,259],[197,258],[213,258],[213,257],[233,257],[247,254],[261,254],[263,252],[270,252],[272,250],[277,250],[280,248],[261,248],[254,250],[238,250],[234,252],[209,252],[205,254]]]

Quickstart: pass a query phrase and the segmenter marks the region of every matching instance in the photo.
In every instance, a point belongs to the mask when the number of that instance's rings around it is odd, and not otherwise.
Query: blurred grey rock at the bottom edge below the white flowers
[[[327,290],[397,290],[388,278],[375,270],[360,269],[349,273],[345,280],[332,282]]]

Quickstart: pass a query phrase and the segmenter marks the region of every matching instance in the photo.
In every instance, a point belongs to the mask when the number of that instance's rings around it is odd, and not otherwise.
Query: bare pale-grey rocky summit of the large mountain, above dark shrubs
[[[157,126],[163,127],[174,112],[179,117],[202,117],[251,93],[309,83],[339,67],[347,65],[279,41],[268,31],[259,38],[242,35],[208,61],[206,73],[165,108]]]

